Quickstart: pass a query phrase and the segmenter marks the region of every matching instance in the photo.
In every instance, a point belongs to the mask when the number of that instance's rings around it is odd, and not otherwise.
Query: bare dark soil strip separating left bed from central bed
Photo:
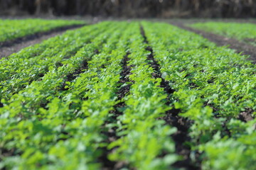
[[[65,33],[66,30],[72,30],[75,28],[80,28],[82,26],[85,26],[85,25],[65,26],[61,28],[55,28],[47,32],[36,33],[33,35],[25,36],[23,38],[17,38],[15,40],[0,42],[0,59],[2,57],[8,57],[9,55],[20,51],[24,47],[28,47],[30,45],[40,43],[43,40],[47,40],[48,38],[52,38],[52,37],[55,37],[56,35]]]

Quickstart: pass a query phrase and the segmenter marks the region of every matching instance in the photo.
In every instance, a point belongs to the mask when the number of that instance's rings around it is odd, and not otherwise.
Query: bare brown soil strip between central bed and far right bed
[[[171,22],[172,25],[178,26],[184,30],[191,31],[193,33],[197,33],[202,35],[203,38],[207,38],[208,40],[215,42],[218,46],[226,46],[228,45],[229,48],[235,50],[236,52],[242,52],[242,55],[250,55],[249,60],[252,60],[254,64],[256,64],[256,47],[249,45],[245,42],[240,42],[239,40],[235,40],[233,38],[226,38],[221,35],[216,35],[214,33],[207,33],[203,30],[197,30],[194,28],[190,28],[185,26],[181,22]]]

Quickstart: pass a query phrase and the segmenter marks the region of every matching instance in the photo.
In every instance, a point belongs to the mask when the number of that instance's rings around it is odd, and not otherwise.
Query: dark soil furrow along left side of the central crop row
[[[110,125],[117,123],[117,118],[119,115],[122,115],[122,111],[119,111],[120,108],[125,108],[125,103],[122,101],[122,98],[126,96],[129,93],[129,89],[131,87],[131,84],[127,84],[130,82],[129,80],[129,75],[131,74],[131,67],[127,65],[127,62],[129,61],[129,52],[127,52],[127,55],[124,56],[121,64],[122,64],[122,72],[120,73],[120,80],[118,81],[117,84],[118,86],[118,91],[117,91],[117,99],[119,103],[117,103],[114,106],[114,111],[110,111],[110,118],[109,120],[105,123],[105,125]],[[117,136],[117,127],[113,128],[106,128],[107,132],[102,132],[104,135],[106,135],[107,140],[105,141],[107,144],[110,144],[111,142],[114,142],[115,140],[119,139]],[[113,162],[110,159],[107,158],[109,154],[114,152],[114,149],[107,149],[107,147],[103,147],[103,154],[100,157],[100,162],[102,163],[102,169],[104,170],[117,170],[117,169],[122,169],[126,168],[129,169],[129,166],[127,165],[126,162]]]

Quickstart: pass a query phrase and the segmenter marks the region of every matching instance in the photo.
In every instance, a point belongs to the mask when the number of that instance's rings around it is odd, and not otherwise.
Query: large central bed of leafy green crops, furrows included
[[[0,169],[255,169],[248,58],[148,21],[23,48],[0,60]]]

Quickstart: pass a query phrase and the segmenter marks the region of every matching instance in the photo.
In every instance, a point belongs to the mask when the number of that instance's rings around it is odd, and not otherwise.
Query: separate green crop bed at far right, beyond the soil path
[[[206,22],[193,23],[190,26],[256,45],[256,24],[254,23]]]

